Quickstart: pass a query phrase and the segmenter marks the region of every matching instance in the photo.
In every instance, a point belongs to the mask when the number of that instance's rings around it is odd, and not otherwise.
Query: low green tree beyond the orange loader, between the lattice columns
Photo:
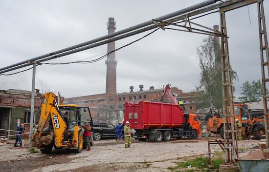
[[[239,97],[239,100],[241,101],[259,101],[262,99],[263,86],[260,79],[258,79],[257,82],[253,80],[252,84],[248,81],[244,82],[241,89],[241,95],[243,95],[242,97]]]

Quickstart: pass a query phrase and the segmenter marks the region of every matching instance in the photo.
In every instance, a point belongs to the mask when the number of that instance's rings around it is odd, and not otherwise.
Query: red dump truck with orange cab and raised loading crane
[[[140,141],[170,141],[173,137],[196,139],[200,135],[200,121],[195,114],[183,113],[170,85],[166,85],[161,100],[170,95],[172,103],[140,101],[125,103],[124,121],[135,130],[134,137]]]

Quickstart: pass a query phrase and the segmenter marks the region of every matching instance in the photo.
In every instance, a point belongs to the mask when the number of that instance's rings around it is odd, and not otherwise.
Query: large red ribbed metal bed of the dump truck
[[[185,122],[182,109],[178,105],[149,101],[126,102],[124,121],[129,121],[130,127],[134,130],[171,129]]]

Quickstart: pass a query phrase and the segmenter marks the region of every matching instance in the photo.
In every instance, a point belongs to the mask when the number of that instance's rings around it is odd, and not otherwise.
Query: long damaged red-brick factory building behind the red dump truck
[[[92,117],[96,120],[112,120],[123,111],[124,102],[139,102],[139,101],[159,101],[164,88],[143,90],[140,85],[140,90],[134,92],[131,87],[130,92],[120,94],[98,94],[89,96],[79,96],[65,98],[64,104],[77,104],[80,107],[89,107]],[[172,87],[172,91],[177,99],[184,102],[185,109],[189,113],[195,113],[194,93],[184,93],[177,87]],[[105,110],[106,109],[106,110]],[[102,112],[100,112],[102,111]],[[105,111],[105,112],[104,112]]]

